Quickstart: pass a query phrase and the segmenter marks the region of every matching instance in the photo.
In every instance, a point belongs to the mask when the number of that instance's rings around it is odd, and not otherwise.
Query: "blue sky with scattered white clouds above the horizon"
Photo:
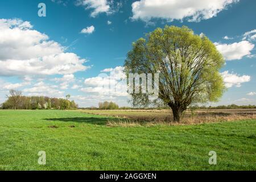
[[[42,2],[46,17],[38,16]],[[168,24],[205,34],[224,55],[228,90],[211,105],[256,105],[255,7],[250,0],[1,1],[0,102],[19,89],[27,96],[71,94],[80,106],[128,105],[122,89],[109,94],[97,84],[109,68],[122,75],[131,43]]]

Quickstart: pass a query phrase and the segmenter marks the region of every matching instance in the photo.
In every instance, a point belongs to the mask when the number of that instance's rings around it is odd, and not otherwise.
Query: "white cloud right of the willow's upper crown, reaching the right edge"
[[[254,48],[254,44],[251,44],[246,40],[233,44],[215,43],[215,45],[227,61],[240,60],[243,56],[249,56]]]

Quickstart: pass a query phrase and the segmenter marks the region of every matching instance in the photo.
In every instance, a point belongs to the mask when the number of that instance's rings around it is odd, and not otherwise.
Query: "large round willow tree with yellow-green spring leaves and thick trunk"
[[[218,101],[222,96],[222,65],[223,56],[206,36],[195,35],[185,26],[157,28],[133,43],[125,72],[127,76],[159,73],[159,97],[152,101],[150,93],[131,93],[131,101],[134,106],[161,102],[172,109],[174,121],[180,121],[190,105]]]

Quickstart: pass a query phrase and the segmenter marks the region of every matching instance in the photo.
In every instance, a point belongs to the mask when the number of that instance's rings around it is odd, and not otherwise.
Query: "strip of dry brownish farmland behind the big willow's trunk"
[[[170,110],[78,110],[88,114],[105,115],[115,118],[127,118],[133,122],[147,123],[170,123],[172,113]],[[207,122],[234,121],[240,119],[256,119],[256,109],[201,109],[187,110],[180,123],[174,124],[197,124]]]

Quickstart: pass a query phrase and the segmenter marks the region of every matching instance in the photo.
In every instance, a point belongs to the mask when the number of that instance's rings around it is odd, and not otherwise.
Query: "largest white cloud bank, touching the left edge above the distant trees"
[[[30,22],[0,19],[0,76],[66,75],[89,68],[85,59],[64,51]]]

